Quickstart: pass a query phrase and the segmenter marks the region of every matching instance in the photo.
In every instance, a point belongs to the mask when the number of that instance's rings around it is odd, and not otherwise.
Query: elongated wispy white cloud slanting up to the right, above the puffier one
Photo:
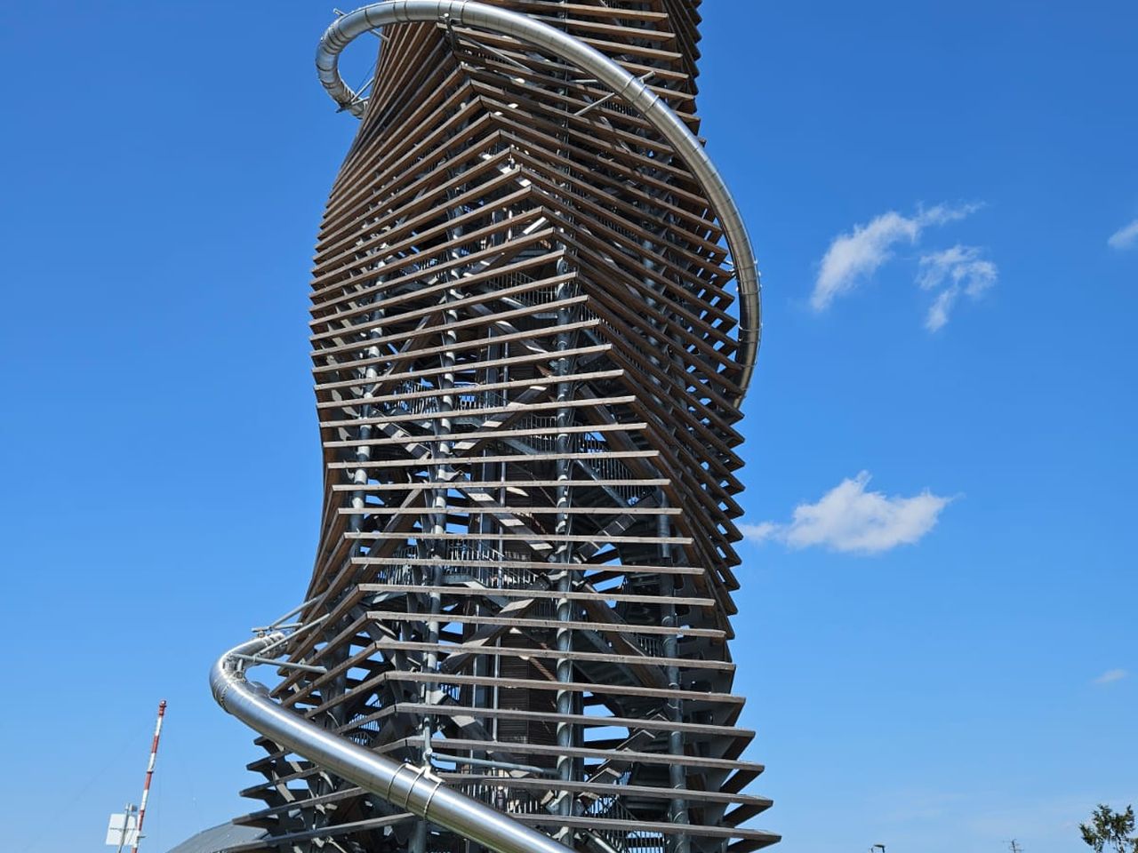
[[[915,216],[901,216],[890,210],[867,225],[855,225],[851,233],[839,234],[822,258],[810,305],[815,310],[824,310],[835,297],[852,290],[859,280],[872,275],[889,260],[897,243],[915,243],[925,227],[963,220],[979,207],[937,205],[918,210]]]

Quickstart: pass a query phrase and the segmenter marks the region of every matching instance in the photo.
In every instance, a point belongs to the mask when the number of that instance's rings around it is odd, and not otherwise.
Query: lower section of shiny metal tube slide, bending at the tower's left
[[[234,646],[209,672],[214,698],[228,713],[282,747],[382,797],[423,820],[495,853],[566,853],[569,847],[488,805],[447,787],[428,768],[399,764],[325,731],[277,704],[263,686],[245,678],[241,659],[255,656],[286,635],[271,633]]]

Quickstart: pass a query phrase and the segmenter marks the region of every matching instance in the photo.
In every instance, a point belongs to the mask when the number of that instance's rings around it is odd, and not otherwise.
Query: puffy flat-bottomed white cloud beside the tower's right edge
[[[789,524],[741,524],[749,539],[773,539],[791,548],[823,546],[855,554],[880,554],[912,545],[933,529],[950,498],[925,490],[913,497],[866,491],[869,474],[842,480],[816,504],[794,508]]]

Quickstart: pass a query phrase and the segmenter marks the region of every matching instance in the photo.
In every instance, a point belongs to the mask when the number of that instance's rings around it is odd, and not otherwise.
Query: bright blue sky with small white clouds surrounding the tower
[[[0,9],[15,853],[102,848],[162,697],[147,846],[253,805],[206,672],[311,568],[307,271],[353,132],[312,69],[330,14]],[[764,272],[735,645],[761,823],[1082,848],[1097,802],[1138,803],[1138,7],[704,17],[703,133]]]

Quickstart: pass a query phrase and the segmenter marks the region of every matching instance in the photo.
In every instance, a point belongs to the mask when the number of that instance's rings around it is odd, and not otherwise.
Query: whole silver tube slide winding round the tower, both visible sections
[[[750,239],[735,201],[698,139],[641,78],[571,35],[508,9],[470,0],[387,0],[345,15],[329,27],[316,53],[321,82],[343,109],[362,115],[364,101],[340,78],[339,53],[355,38],[378,27],[437,20],[513,36],[572,63],[635,108],[675,148],[704,190],[734,260],[741,320],[735,359],[742,368],[740,388],[745,390],[761,328],[759,276]],[[566,846],[543,833],[447,787],[428,767],[397,763],[333,735],[282,707],[267,689],[248,681],[247,666],[270,663],[257,655],[288,639],[286,633],[270,633],[222,655],[212,670],[211,685],[223,710],[336,776],[496,853],[564,853]]]

